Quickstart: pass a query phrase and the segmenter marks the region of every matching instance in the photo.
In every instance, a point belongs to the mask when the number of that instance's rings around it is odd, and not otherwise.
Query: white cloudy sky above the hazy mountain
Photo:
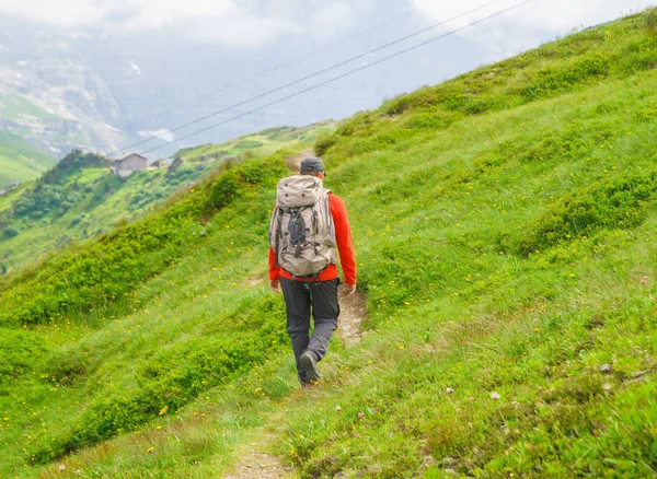
[[[234,48],[255,48],[281,37],[339,38],[371,25],[377,4],[439,21],[475,9],[491,0],[0,0],[0,14],[69,28],[142,31],[173,27],[182,35]],[[464,15],[445,28],[459,27],[521,0],[498,0]],[[504,54],[563,35],[581,25],[614,20],[643,10],[657,0],[533,0],[512,12],[465,31],[480,43],[496,38]],[[381,17],[381,12],[378,12]],[[388,13],[388,12],[387,12]],[[369,22],[368,22],[369,21]],[[509,28],[511,30],[509,32]],[[515,40],[505,43],[514,33]],[[534,35],[535,34],[535,35]],[[486,36],[486,37],[484,37]],[[520,40],[519,40],[520,38]],[[521,42],[521,43],[519,43]],[[504,51],[503,51],[504,50]]]

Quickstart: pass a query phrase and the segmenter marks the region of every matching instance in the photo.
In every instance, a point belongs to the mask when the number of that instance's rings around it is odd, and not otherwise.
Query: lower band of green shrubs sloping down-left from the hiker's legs
[[[232,331],[189,337],[145,355],[137,366],[134,387],[112,386],[111,390],[94,392],[72,431],[55,440],[51,433],[38,437],[30,459],[48,462],[120,431],[134,430],[168,411],[176,411],[201,392],[230,381],[254,364],[262,364],[272,350],[286,342],[287,334],[278,319],[284,315],[283,303],[270,295],[251,300],[232,314],[214,319],[231,325]],[[69,350],[53,358],[55,364],[50,364],[49,373],[62,376],[66,384],[87,371],[87,359],[79,352]]]

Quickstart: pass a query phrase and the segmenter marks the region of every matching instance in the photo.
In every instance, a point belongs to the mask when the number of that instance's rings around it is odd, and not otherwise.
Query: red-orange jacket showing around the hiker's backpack
[[[345,273],[345,283],[356,284],[356,255],[354,254],[354,243],[351,241],[351,230],[349,229],[349,218],[347,207],[344,201],[328,194],[328,203],[331,206],[331,217],[335,224],[335,240],[337,242],[337,253],[339,253],[339,264]],[[292,279],[292,274],[276,266],[276,253],[269,246],[269,279],[272,281],[283,278]],[[330,281],[337,278],[337,266],[328,265],[324,271],[318,276],[319,281]],[[297,278],[298,281],[306,281],[304,278]]]

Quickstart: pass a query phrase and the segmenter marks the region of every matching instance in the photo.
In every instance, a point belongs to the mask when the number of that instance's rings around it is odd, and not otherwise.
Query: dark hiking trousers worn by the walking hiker
[[[311,351],[318,361],[326,355],[328,340],[337,328],[338,283],[338,279],[306,282],[280,278],[287,308],[287,331],[292,341],[297,371],[299,371],[299,357],[307,350]],[[314,319],[312,335],[310,335],[311,314]],[[299,379],[306,382],[301,372],[299,372]]]

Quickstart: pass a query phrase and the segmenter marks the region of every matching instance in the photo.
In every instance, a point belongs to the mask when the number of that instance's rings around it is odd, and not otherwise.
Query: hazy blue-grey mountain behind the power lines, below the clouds
[[[364,19],[361,28],[390,21],[402,9],[407,9],[405,2],[387,0]],[[197,40],[168,28],[132,33],[123,28],[71,31],[3,15],[0,17],[0,130],[30,138],[57,157],[71,149],[107,153],[324,70],[426,27],[428,22],[403,15],[388,27],[369,30],[362,35],[349,32],[350,39],[344,43],[320,40],[321,35],[298,42],[292,35],[262,49],[241,49]],[[309,54],[313,50],[319,51]],[[360,58],[348,68],[382,55]],[[222,142],[278,125],[344,118],[379,105],[384,97],[498,58],[473,42],[452,35],[422,51],[308,92],[284,105],[226,122],[182,143],[166,145],[164,140],[155,139],[145,150],[159,144],[163,147],[159,154],[166,156],[180,148]],[[325,80],[327,74],[310,83]],[[2,103],[7,98],[12,102],[20,98],[25,108],[4,118]],[[221,119],[240,112],[227,112]],[[211,119],[197,127],[208,125]],[[194,129],[197,128],[174,135],[180,138]]]

